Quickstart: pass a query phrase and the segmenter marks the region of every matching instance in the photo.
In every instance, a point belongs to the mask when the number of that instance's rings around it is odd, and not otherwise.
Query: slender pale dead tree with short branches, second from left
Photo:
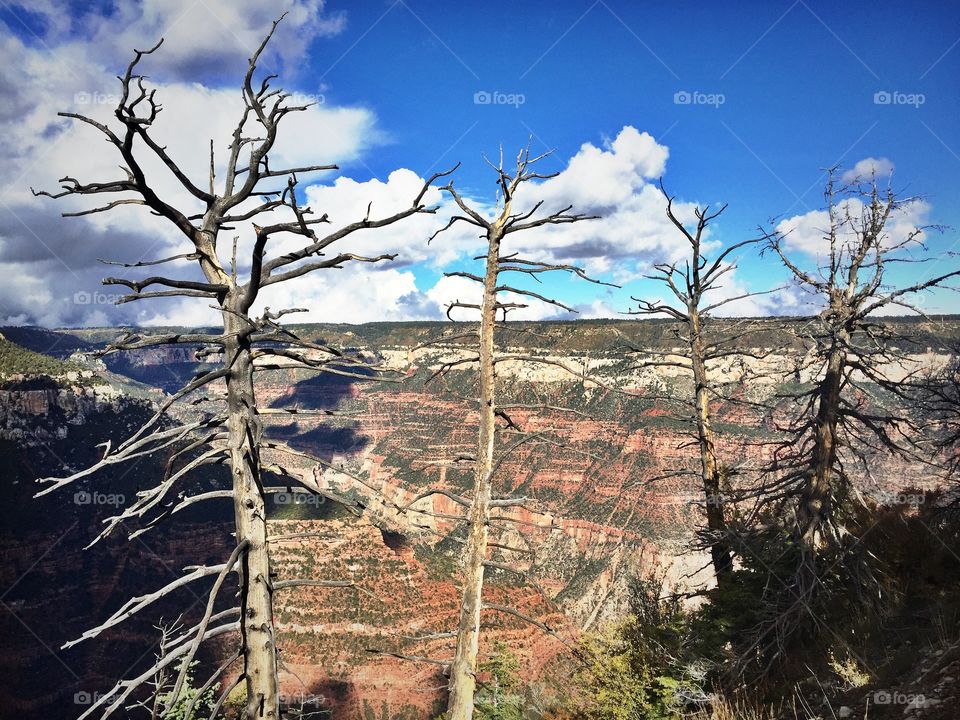
[[[509,312],[528,306],[528,298],[552,304],[563,310],[574,312],[573,308],[548,298],[531,290],[521,289],[507,284],[505,278],[511,273],[538,277],[543,273],[567,272],[577,275],[591,282],[599,282],[589,278],[583,269],[572,265],[540,262],[520,257],[517,252],[505,252],[503,243],[511,235],[518,232],[533,230],[547,225],[562,225],[591,219],[590,216],[571,213],[571,206],[559,211],[543,214],[540,212],[542,202],[527,205],[521,208],[516,200],[518,190],[525,183],[553,177],[538,173],[534,166],[549,153],[538,157],[531,157],[529,146],[522,150],[516,158],[514,168],[504,166],[503,153],[497,165],[488,162],[497,175],[497,203],[493,217],[488,219],[481,212],[471,207],[464,198],[454,189],[452,183],[442,188],[447,192],[462,214],[456,214],[442,229],[431,237],[431,240],[444,230],[456,223],[466,223],[479,228],[481,237],[486,244],[486,253],[477,257],[483,260],[483,274],[466,271],[447,273],[448,276],[464,277],[476,282],[481,288],[478,302],[464,302],[457,300],[450,303],[447,316],[457,309],[479,313],[479,328],[468,333],[474,339],[473,352],[464,360],[453,361],[452,364],[475,363],[479,373],[479,387],[477,407],[479,413],[479,428],[477,434],[477,452],[473,472],[473,497],[464,500],[462,504],[467,509],[467,538],[463,549],[462,561],[462,596],[460,603],[460,619],[456,631],[456,651],[450,665],[449,702],[447,717],[450,720],[468,720],[473,716],[474,691],[476,689],[477,654],[480,640],[480,618],[486,609],[506,612],[509,609],[485,606],[483,604],[484,571],[490,564],[488,550],[490,549],[491,509],[517,504],[518,500],[494,498],[494,475],[499,464],[505,457],[499,456],[498,449],[498,418],[504,419],[508,425],[513,425],[506,412],[497,404],[496,368],[502,362],[546,362],[560,364],[534,355],[516,355],[498,353],[496,333],[498,329],[506,327],[506,318]],[[451,366],[452,366],[451,364]],[[441,368],[441,371],[449,367]],[[574,374],[582,374],[572,368],[565,368]],[[530,438],[521,438],[518,442],[525,442]],[[505,452],[516,447],[516,443]],[[518,615],[518,613],[512,613]]]

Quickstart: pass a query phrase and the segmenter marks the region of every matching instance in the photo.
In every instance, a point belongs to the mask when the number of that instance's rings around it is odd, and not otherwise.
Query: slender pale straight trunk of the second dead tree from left
[[[473,717],[477,654],[480,640],[484,561],[492,494],[495,426],[494,324],[497,312],[497,268],[500,256],[500,229],[487,233],[487,265],[483,278],[480,316],[480,430],[474,470],[474,495],[470,506],[470,528],[464,558],[463,600],[457,627],[457,651],[450,666],[449,720]]]

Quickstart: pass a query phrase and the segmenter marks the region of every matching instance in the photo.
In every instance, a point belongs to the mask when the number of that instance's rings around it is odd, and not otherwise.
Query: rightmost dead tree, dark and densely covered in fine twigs
[[[789,325],[808,348],[801,368],[805,377],[774,415],[784,439],[774,445],[759,488],[769,516],[787,519],[777,521],[786,527],[774,527],[773,533],[783,537],[781,530],[786,531],[794,557],[786,588],[771,588],[778,596],[771,620],[776,632],[768,627],[761,633],[774,656],[782,655],[803,622],[818,622],[811,608],[818,607],[825,573],[833,584],[852,585],[852,596],[864,603],[880,597],[876,559],[856,552],[858,486],[871,480],[872,461],[883,454],[931,462],[917,444],[911,386],[923,371],[911,352],[925,347],[883,314],[898,308],[922,314],[916,303],[925,291],[960,277],[960,269],[947,269],[952,264],[926,265],[938,259],[924,244],[935,226],[900,227],[915,198],[881,189],[873,178],[844,184],[836,168],[828,173],[826,226],[815,258],[804,262],[792,252],[789,234],[771,233],[765,247],[780,259],[797,290],[821,309]],[[894,268],[916,268],[920,279],[897,282]]]

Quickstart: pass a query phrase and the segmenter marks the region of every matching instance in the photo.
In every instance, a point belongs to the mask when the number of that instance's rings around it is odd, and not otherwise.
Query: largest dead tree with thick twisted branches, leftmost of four
[[[282,17],[273,23],[270,32],[249,59],[241,93],[243,108],[226,149],[221,178],[215,176],[216,158],[211,142],[210,172],[205,183],[188,177],[167,149],[154,140],[151,132],[161,112],[156,90],[149,89],[138,66],[145,56],[162,43],[146,51],[135,51],[133,60],[120,76],[121,94],[113,111],[113,120],[99,122],[76,113],[60,113],[62,117],[90,126],[106,140],[116,154],[123,177],[106,182],[81,182],[72,177],[61,180],[56,193],[36,192],[52,198],[104,197],[104,204],[65,216],[82,216],[107,212],[121,205],[141,205],[153,215],[171,223],[184,236],[186,252],[156,260],[135,263],[112,262],[127,268],[156,267],[176,261],[190,261],[179,267],[185,277],[150,275],[137,278],[106,278],[106,285],[119,285],[130,292],[118,302],[148,298],[190,297],[212,302],[223,322],[220,334],[195,332],[183,334],[130,334],[109,346],[107,352],[136,351],[169,344],[187,344],[199,348],[199,354],[213,363],[213,369],[199,373],[181,390],[164,400],[153,417],[127,440],[116,447],[107,447],[97,464],[68,477],[47,478],[40,495],[63,488],[101,468],[135,461],[153,453],[167,455],[162,478],[153,487],[137,494],[136,500],[122,512],[109,518],[107,527],[94,540],[110,534],[128,521],[144,522],[139,534],[160,519],[203,501],[229,499],[235,516],[236,546],[230,559],[216,567],[198,567],[166,587],[139,598],[133,598],[106,622],[86,632],[80,640],[95,637],[114,627],[169,593],[190,582],[213,578],[202,620],[183,630],[166,644],[166,652],[158,664],[139,677],[121,680],[108,693],[90,706],[82,717],[96,712],[107,717],[124,707],[128,697],[158,672],[177,663],[181,668],[173,690],[167,696],[164,712],[177,702],[185,676],[199,645],[205,640],[225,634],[239,635],[235,657],[242,662],[238,678],[246,685],[246,716],[278,718],[277,637],[273,617],[274,592],[297,584],[320,584],[323,581],[287,580],[274,582],[270,564],[269,535],[265,498],[271,492],[286,492],[288,487],[265,485],[266,473],[286,475],[313,492],[329,493],[312,475],[287,470],[284,455],[307,457],[283,443],[264,437],[264,421],[274,414],[288,411],[260,410],[257,404],[255,373],[269,368],[295,368],[328,372],[348,377],[370,379],[377,368],[363,358],[347,355],[336,348],[300,338],[282,326],[279,319],[297,309],[279,312],[264,311],[255,317],[251,308],[261,290],[293,280],[315,271],[339,269],[349,263],[377,263],[392,255],[367,257],[339,250],[355,233],[399,222],[417,213],[433,212],[423,204],[424,195],[433,181],[446,175],[438,173],[427,180],[410,205],[393,214],[374,218],[368,208],[366,217],[342,225],[326,234],[318,230],[332,221],[326,214],[316,216],[298,201],[298,177],[302,174],[336,169],[334,165],[305,165],[277,168],[270,164],[273,149],[283,120],[291,113],[303,112],[309,105],[292,104],[290,95],[271,87],[275,76],[257,79],[258,63]],[[115,122],[114,122],[115,121]],[[147,163],[159,161],[191,196],[192,206],[176,206],[161,197],[156,185],[147,177]],[[217,180],[219,188],[217,187]],[[277,183],[279,187],[271,183]],[[340,219],[337,219],[340,222]],[[246,229],[251,235],[249,270],[243,272],[237,261],[238,233]],[[229,264],[221,257],[221,240],[227,232],[233,238]],[[271,256],[270,241],[299,237],[299,249]],[[229,250],[228,250],[229,251]],[[222,388],[222,400],[205,397],[203,392]],[[174,403],[187,401],[197,408],[221,409],[200,413],[200,418],[183,424],[169,417]],[[204,402],[206,401],[206,402]],[[269,457],[267,456],[269,454]],[[317,462],[322,462],[315,459]],[[229,468],[230,486],[195,496],[176,493],[185,476],[210,466]],[[218,611],[217,593],[226,578],[236,573],[239,583],[239,607]],[[330,581],[330,585],[349,583]],[[79,640],[74,641],[79,642]],[[72,644],[72,643],[68,643]],[[227,665],[217,673],[223,673]],[[215,680],[211,678],[205,686]]]

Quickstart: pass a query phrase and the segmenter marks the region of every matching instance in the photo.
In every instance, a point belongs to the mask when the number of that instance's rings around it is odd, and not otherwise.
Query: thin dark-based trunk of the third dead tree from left
[[[726,537],[727,524],[723,516],[720,463],[717,461],[716,442],[710,422],[710,390],[704,360],[703,338],[700,335],[700,313],[696,306],[688,308],[688,317],[690,318],[690,361],[695,384],[697,440],[700,444],[700,477],[707,507],[710,556],[717,585],[723,585],[733,570],[733,554]]]

